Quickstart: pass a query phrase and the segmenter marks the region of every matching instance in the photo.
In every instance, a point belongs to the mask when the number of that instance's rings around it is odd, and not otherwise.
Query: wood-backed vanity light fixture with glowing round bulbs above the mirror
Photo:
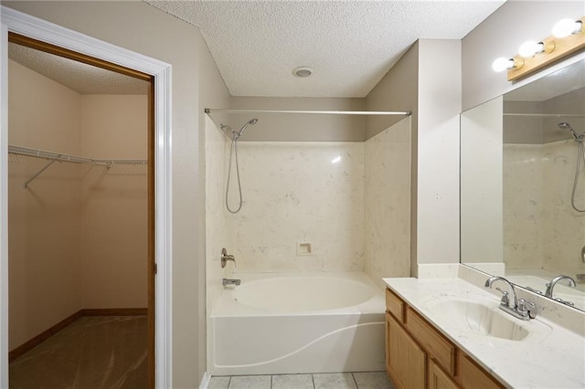
[[[518,55],[514,58],[497,58],[492,68],[495,71],[507,69],[508,81],[514,81],[567,58],[585,48],[583,23],[585,16],[578,20],[560,20],[553,28],[552,36],[539,42],[530,40],[523,43]]]

